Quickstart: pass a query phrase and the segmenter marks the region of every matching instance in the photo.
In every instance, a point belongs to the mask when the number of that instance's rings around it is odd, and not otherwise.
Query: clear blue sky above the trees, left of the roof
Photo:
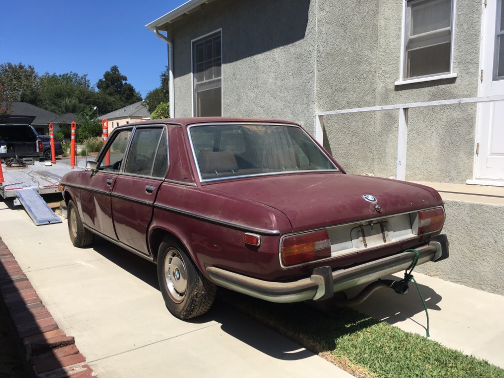
[[[145,98],[168,64],[166,43],[145,25],[185,1],[0,0],[0,64],[88,74],[92,86],[116,65]]]

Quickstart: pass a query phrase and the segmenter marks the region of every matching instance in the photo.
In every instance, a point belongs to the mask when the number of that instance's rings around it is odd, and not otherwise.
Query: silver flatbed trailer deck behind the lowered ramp
[[[4,199],[16,198],[16,192],[23,189],[33,189],[40,195],[58,193],[59,180],[73,169],[83,168],[57,162],[52,165],[34,162],[33,165],[11,168],[2,164],[5,182],[0,182],[0,196]]]

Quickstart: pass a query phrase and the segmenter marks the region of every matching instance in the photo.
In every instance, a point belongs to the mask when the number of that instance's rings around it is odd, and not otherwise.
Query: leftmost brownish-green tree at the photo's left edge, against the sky
[[[38,74],[33,66],[11,62],[0,65],[0,86],[4,87],[6,101],[21,101],[21,96],[38,87]]]

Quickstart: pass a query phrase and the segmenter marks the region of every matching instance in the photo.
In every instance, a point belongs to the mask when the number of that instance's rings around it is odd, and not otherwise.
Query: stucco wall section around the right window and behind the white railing
[[[402,2],[318,3],[318,111],[477,96],[478,2],[456,2],[453,71],[458,77],[397,86]],[[398,114],[326,116],[333,155],[349,172],[395,176]],[[406,179],[462,183],[472,178],[475,116],[475,105],[410,110]]]

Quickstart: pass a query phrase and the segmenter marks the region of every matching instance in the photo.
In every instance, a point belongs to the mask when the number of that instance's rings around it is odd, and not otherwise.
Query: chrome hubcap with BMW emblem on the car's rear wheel
[[[187,290],[187,271],[177,249],[168,250],[163,268],[168,294],[174,302],[180,303]]]

